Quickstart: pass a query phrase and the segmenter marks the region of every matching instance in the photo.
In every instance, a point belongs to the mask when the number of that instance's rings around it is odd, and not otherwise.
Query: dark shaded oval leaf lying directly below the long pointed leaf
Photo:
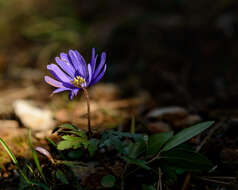
[[[163,152],[159,159],[161,166],[170,166],[179,172],[178,169],[187,171],[205,171],[212,167],[211,162],[203,155],[185,150],[170,150]]]

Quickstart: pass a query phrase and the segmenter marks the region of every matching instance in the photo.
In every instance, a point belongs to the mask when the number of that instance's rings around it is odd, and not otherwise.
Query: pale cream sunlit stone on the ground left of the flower
[[[50,110],[40,109],[27,100],[16,100],[13,103],[15,114],[25,127],[41,131],[54,127],[55,122]]]

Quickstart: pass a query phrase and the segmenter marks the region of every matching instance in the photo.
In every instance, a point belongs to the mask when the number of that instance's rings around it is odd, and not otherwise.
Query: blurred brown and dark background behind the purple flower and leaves
[[[237,33],[237,0],[0,0],[0,137],[26,156],[26,127],[44,144],[57,124],[87,128],[81,94],[51,97],[44,76],[59,53],[89,61],[95,47],[108,67],[89,92],[94,130],[131,118],[151,133],[224,121],[204,149],[237,176]]]

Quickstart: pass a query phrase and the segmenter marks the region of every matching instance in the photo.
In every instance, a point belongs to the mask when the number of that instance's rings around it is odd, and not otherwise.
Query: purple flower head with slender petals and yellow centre
[[[86,63],[82,55],[77,50],[69,50],[69,53],[61,53],[56,57],[56,64],[47,65],[47,69],[57,79],[45,76],[45,81],[56,87],[52,94],[69,90],[69,98],[72,100],[81,88],[87,88],[97,83],[104,75],[107,65],[106,53],[101,54],[101,60],[96,67],[97,55],[95,49],[92,50],[90,63]]]

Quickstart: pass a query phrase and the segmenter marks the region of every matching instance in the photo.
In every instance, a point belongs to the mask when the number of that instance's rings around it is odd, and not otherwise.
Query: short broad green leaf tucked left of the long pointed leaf
[[[173,132],[164,132],[149,137],[147,155],[156,155],[161,147],[173,136]]]

